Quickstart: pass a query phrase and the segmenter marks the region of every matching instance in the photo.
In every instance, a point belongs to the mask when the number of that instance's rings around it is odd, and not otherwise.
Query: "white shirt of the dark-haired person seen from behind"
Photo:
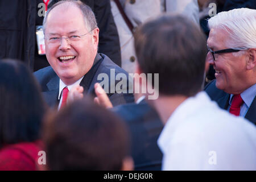
[[[256,127],[205,92],[175,109],[158,145],[163,170],[256,170]]]

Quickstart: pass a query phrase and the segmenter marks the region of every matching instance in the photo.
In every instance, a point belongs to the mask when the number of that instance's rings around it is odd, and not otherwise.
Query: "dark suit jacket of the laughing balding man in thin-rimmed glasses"
[[[109,76],[108,96],[112,104],[115,106],[119,104],[125,104],[128,102],[133,102],[133,94],[129,94],[128,92],[128,82],[126,88],[127,93],[110,93],[110,86],[115,86],[118,83],[118,80],[115,80],[115,82],[113,82],[115,85],[110,85],[110,69],[114,69],[115,75],[117,75],[118,73],[124,73],[128,78],[128,73],[126,71],[118,67],[118,65],[114,64],[108,56],[98,53],[94,60],[93,67],[90,69],[88,73],[86,73],[86,75],[84,76],[84,78],[82,78],[82,81],[80,83],[80,85],[84,87],[84,93],[94,97],[94,84],[96,82],[102,81],[97,80],[97,77],[100,73],[106,73]],[[36,71],[34,75],[41,85],[42,93],[47,104],[51,107],[56,106],[59,103],[58,96],[60,78],[56,75],[52,67],[40,69],[39,71]]]

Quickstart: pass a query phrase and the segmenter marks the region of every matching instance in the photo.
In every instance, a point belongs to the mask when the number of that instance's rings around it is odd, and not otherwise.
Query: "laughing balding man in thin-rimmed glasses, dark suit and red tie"
[[[69,90],[81,85],[86,94],[94,94],[93,85],[100,73],[110,76],[127,73],[104,54],[98,53],[96,18],[89,6],[80,1],[60,1],[48,11],[43,22],[46,57],[51,67],[35,72],[49,106],[59,102],[59,108],[67,100]],[[110,79],[114,79],[110,77]],[[110,88],[116,81],[109,82]],[[126,88],[122,88],[126,90]],[[113,105],[133,102],[133,94],[108,92]]]

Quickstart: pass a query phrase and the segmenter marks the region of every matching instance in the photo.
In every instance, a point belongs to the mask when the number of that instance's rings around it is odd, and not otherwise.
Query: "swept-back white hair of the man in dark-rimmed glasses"
[[[228,32],[227,48],[256,48],[256,10],[241,8],[223,11],[210,18],[208,26]]]

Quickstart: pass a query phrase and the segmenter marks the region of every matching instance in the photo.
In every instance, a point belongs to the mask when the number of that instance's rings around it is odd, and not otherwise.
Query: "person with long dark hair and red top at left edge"
[[[35,170],[46,105],[20,61],[0,61],[0,170]]]

